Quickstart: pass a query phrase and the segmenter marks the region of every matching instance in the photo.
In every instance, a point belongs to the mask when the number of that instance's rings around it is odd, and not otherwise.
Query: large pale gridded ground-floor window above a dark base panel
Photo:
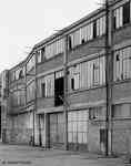
[[[79,144],[88,143],[88,110],[68,113],[68,142]]]

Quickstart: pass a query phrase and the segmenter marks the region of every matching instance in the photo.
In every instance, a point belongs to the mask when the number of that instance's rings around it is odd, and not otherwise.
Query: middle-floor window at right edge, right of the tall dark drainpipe
[[[114,51],[114,81],[131,77],[131,46]]]

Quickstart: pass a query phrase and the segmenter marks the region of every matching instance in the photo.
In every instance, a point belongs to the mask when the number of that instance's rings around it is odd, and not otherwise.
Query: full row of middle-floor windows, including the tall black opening
[[[38,80],[38,97],[63,97],[63,71],[59,71]],[[131,79],[131,46],[114,51],[113,80]],[[75,64],[69,68],[68,87],[70,91],[90,89],[105,83],[105,58]],[[59,92],[59,94],[58,94]],[[19,94],[18,94],[19,95]],[[34,82],[27,87],[28,101],[34,98]],[[17,102],[18,103],[18,102]]]

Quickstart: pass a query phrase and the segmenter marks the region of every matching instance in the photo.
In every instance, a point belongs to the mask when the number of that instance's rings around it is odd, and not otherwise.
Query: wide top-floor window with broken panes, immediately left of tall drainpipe
[[[105,17],[101,17],[69,35],[69,50],[105,33]]]

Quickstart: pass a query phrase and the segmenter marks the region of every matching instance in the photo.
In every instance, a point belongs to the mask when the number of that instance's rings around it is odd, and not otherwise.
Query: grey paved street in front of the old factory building
[[[124,166],[120,158],[40,147],[0,144],[0,166]]]

